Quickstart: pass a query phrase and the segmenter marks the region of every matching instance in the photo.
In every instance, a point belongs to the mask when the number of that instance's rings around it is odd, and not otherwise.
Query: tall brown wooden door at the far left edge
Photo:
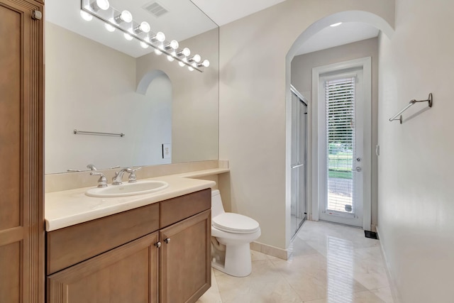
[[[43,12],[0,0],[0,302],[44,302]]]

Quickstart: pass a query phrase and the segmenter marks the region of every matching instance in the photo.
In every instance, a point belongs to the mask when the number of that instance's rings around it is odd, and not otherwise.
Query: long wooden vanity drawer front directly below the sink
[[[159,229],[159,203],[47,233],[47,275]]]

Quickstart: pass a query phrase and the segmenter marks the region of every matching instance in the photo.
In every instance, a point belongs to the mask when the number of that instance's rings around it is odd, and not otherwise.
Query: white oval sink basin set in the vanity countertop
[[[109,184],[108,187],[95,187],[87,190],[85,194],[89,197],[127,197],[135,196],[136,194],[150,194],[150,192],[158,192],[169,186],[167,182],[157,180],[144,180],[135,183],[123,183],[121,185]]]

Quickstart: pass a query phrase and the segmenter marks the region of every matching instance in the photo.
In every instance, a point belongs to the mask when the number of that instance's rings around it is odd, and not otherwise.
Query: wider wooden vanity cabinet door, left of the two
[[[157,302],[158,233],[48,277],[48,302]]]

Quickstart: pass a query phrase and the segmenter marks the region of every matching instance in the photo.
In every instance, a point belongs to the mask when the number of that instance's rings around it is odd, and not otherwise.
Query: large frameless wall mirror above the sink
[[[190,71],[98,18],[84,20],[81,0],[46,0],[45,173],[218,159],[216,23],[189,0],[109,5],[210,65]]]

